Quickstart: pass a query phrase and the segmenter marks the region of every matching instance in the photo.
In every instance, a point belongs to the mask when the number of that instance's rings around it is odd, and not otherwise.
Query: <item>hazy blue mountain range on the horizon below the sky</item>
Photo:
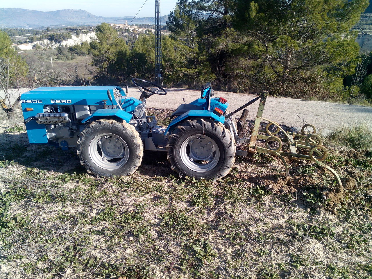
[[[161,17],[161,23],[165,24],[168,16]],[[46,28],[51,26],[74,26],[96,25],[102,22],[128,23],[133,16],[104,17],[95,16],[86,10],[57,10],[52,12],[40,12],[27,9],[0,8],[0,28]],[[155,24],[155,17],[138,17],[132,24],[149,23]]]

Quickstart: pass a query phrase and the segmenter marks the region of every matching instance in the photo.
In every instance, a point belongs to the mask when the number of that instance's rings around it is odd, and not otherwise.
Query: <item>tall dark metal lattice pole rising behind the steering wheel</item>
[[[160,0],[155,0],[155,83],[163,86],[163,63],[161,62]]]

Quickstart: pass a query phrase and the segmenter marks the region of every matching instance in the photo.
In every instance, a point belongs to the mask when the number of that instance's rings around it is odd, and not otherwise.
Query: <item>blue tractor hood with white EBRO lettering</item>
[[[102,100],[108,100],[107,90],[110,90],[111,96],[113,96],[113,89],[115,88],[125,97],[124,90],[119,86],[39,87],[23,93],[21,95],[21,103],[102,105]],[[112,101],[116,105],[115,98],[112,98]]]

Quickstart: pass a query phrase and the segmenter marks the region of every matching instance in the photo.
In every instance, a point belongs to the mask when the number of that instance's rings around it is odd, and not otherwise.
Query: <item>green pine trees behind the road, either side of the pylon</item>
[[[359,54],[357,34],[349,31],[367,5],[365,0],[180,0],[167,21],[171,35],[163,38],[164,83],[196,87],[212,80],[225,91],[265,89],[349,103],[369,99],[362,88],[368,87],[363,83],[372,74],[371,59]],[[153,77],[153,36],[141,35],[128,51],[104,25],[96,34],[97,80]],[[364,70],[356,76],[358,67]]]

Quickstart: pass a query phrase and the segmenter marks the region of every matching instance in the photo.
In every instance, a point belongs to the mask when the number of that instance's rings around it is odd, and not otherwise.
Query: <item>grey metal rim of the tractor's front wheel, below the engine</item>
[[[114,134],[99,134],[89,143],[93,163],[105,170],[120,169],[129,159],[126,142]]]

